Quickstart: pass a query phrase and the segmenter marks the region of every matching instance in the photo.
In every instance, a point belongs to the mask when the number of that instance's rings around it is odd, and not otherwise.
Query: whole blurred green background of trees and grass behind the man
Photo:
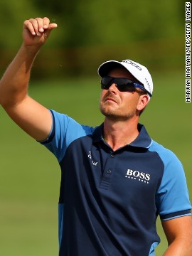
[[[0,73],[21,44],[22,23],[48,16],[58,23],[33,66],[29,93],[82,124],[103,120],[98,66],[131,58],[146,65],[154,95],[141,117],[151,137],[181,159],[190,197],[191,104],[185,102],[183,1],[24,1],[0,3]],[[0,255],[58,255],[60,169],[0,107]],[[161,244],[166,238],[158,221]],[[142,255],[141,255],[142,256]]]

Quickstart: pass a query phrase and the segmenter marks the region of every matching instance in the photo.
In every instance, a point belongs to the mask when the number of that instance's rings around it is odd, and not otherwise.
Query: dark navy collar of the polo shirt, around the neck
[[[134,139],[133,142],[129,144],[129,146],[148,149],[152,142],[151,138],[149,137],[149,134],[146,132],[146,129],[143,124],[138,124],[138,130],[139,135],[137,136],[136,139]],[[100,126],[95,127],[95,130],[93,132],[93,142],[103,141],[102,131],[103,123]]]

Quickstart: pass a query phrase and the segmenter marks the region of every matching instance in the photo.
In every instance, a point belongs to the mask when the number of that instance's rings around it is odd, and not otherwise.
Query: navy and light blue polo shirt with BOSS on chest
[[[156,218],[191,215],[186,178],[173,152],[139,136],[116,151],[88,127],[51,110],[44,144],[61,169],[60,256],[148,256],[160,239]]]

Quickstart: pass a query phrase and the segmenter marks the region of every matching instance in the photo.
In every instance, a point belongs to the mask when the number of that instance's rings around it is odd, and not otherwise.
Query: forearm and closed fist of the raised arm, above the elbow
[[[46,17],[24,21],[23,44],[0,81],[0,104],[6,110],[25,99],[33,60],[56,27],[57,24],[50,23]]]

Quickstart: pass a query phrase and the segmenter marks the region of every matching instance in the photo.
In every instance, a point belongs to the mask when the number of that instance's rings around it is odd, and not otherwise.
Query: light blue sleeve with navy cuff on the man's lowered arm
[[[161,145],[156,151],[164,163],[164,174],[156,193],[156,206],[161,220],[191,215],[191,203],[181,161],[172,151]]]

